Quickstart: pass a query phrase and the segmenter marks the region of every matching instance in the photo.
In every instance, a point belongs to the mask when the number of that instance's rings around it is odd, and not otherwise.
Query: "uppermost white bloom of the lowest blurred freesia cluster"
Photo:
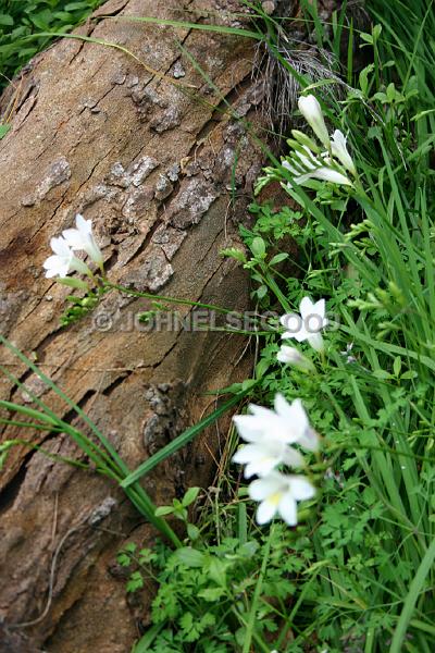
[[[275,395],[274,410],[256,404],[248,406],[251,415],[236,415],[233,420],[237,431],[246,442],[263,445],[264,442],[300,444],[309,451],[316,451],[319,436],[310,427],[307,412],[300,399],[289,404],[282,394]]]

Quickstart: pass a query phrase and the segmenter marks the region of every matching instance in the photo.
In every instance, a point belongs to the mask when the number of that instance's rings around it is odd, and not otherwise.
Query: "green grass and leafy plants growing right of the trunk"
[[[271,405],[276,392],[300,397],[321,433],[318,513],[301,515],[308,526],[296,531],[272,528],[258,605],[265,534],[248,519],[245,535],[256,549],[249,563],[233,566],[244,538],[233,532],[212,546],[210,517],[202,514],[197,538],[157,571],[153,621],[162,629],[156,651],[208,651],[209,641],[244,651],[248,613],[254,615],[249,637],[256,651],[432,650],[435,116],[426,79],[434,75],[427,46],[433,19],[419,13],[423,3],[403,7],[412,17],[406,32],[380,3],[389,23],[362,35],[374,62],[352,79],[340,106],[328,107],[331,121],[349,137],[359,172],[355,188],[341,193],[313,182],[309,195],[288,189],[299,210],[254,204],[256,223],[240,230],[248,254],[224,252],[249,271],[261,308],[283,313],[297,310],[306,295],[327,300],[325,355],[301,346],[316,373],[277,362],[279,336],[271,322],[251,389],[262,405]],[[309,11],[313,19],[311,5]],[[422,74],[426,65],[431,70]],[[260,185],[272,178],[287,188],[282,167],[269,168]],[[286,270],[289,258],[297,275]],[[228,507],[220,503],[217,515],[222,529]],[[276,528],[284,549],[274,539]],[[233,542],[236,549],[228,551]],[[253,572],[254,588],[244,568]],[[229,592],[228,578],[239,594]],[[192,595],[183,603],[177,596],[185,591]],[[210,640],[207,628],[201,631],[206,615],[214,618]]]

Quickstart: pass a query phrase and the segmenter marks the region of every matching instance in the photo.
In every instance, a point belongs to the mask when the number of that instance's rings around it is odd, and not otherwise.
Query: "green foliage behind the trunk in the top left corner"
[[[71,32],[102,1],[0,0],[0,87],[50,40],[47,37],[29,40],[28,36],[38,32]]]

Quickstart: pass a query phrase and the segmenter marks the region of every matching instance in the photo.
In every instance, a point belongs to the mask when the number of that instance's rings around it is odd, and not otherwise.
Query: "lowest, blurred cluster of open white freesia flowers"
[[[259,477],[249,485],[249,496],[260,502],[257,521],[266,523],[278,514],[289,526],[296,526],[297,502],[312,498],[315,490],[307,477],[283,473],[278,468],[303,467],[303,456],[294,445],[316,451],[319,435],[310,427],[300,399],[289,404],[277,394],[274,410],[252,404],[249,411],[233,418],[240,438],[249,443],[233,460],[246,465],[245,477]]]

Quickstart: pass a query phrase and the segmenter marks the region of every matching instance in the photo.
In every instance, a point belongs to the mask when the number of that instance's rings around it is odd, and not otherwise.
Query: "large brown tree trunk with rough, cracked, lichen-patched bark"
[[[222,10],[240,7],[229,0],[185,0],[172,8],[113,0],[99,13],[231,24]],[[204,392],[244,377],[246,342],[132,329],[130,316],[149,303],[115,293],[87,319],[60,330],[67,292],[44,276],[49,238],[83,212],[94,221],[112,280],[246,307],[247,280],[219,252],[237,242],[234,219],[243,219],[262,156],[176,40],[253,128],[259,89],[251,82],[248,39],[110,19],[80,32],[120,44],[175,83],[197,88],[186,91],[119,50],[79,40],[64,39],[34,60],[1,144],[1,331],[27,355],[35,353],[134,468],[210,409]],[[228,188],[235,162],[234,209]],[[1,362],[60,416],[74,419],[7,350]],[[5,378],[0,394],[33,405]],[[28,433],[3,433],[17,435]],[[44,440],[33,434],[38,438]],[[83,457],[62,434],[46,435],[44,445]],[[207,484],[210,452],[217,448],[213,429],[145,486],[164,503],[188,484]],[[13,449],[0,480],[0,651],[128,651],[146,623],[149,596],[127,605],[115,553],[126,540],[150,541],[151,529],[110,481],[28,449]]]

